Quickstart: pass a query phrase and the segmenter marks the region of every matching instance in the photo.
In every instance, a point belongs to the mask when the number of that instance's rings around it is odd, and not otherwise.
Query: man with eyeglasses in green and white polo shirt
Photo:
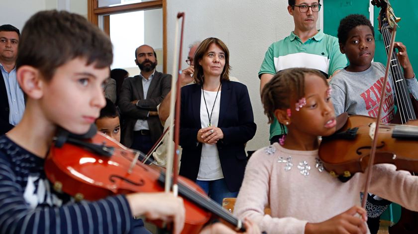
[[[316,29],[320,0],[288,0],[288,11],[293,16],[295,29],[289,36],[268,48],[261,65],[260,93],[273,76],[288,68],[312,68],[330,78],[347,65],[336,37]],[[270,125],[270,143],[279,142],[287,129],[277,119]],[[284,138],[283,138],[284,139]]]

